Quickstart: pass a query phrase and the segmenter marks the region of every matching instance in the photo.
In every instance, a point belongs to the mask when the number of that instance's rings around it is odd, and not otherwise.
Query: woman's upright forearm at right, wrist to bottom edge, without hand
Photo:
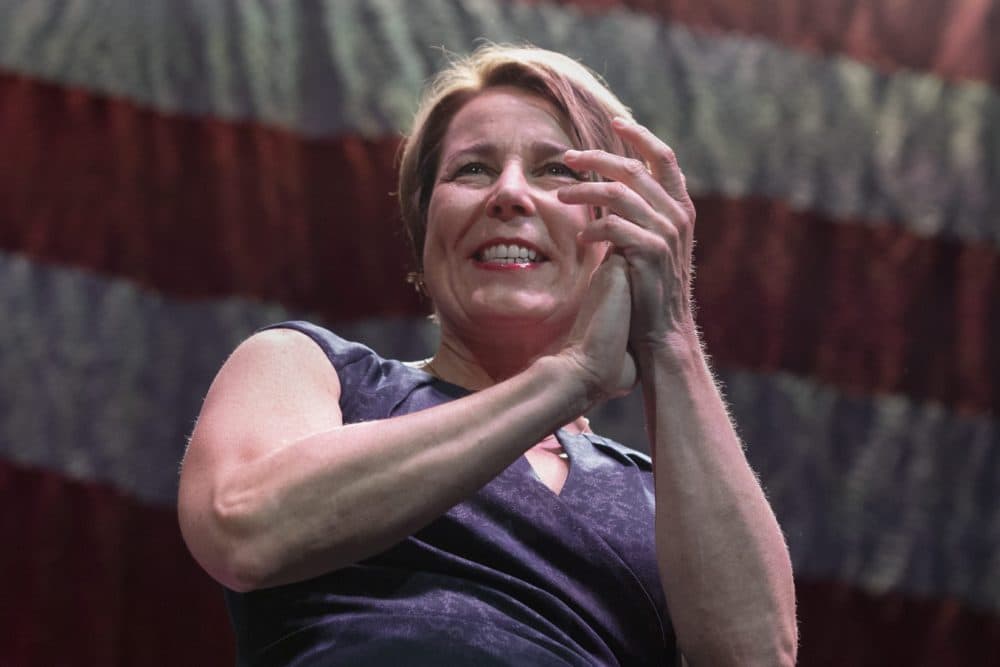
[[[639,361],[671,618],[691,665],[793,664],[788,550],[697,340],[689,339]]]

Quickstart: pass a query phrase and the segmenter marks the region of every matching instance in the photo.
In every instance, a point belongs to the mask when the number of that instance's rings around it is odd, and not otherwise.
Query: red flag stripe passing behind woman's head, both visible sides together
[[[414,315],[394,138],[304,140],[0,77],[0,247],[330,322]],[[696,296],[729,366],[1000,407],[1000,251],[702,197]]]

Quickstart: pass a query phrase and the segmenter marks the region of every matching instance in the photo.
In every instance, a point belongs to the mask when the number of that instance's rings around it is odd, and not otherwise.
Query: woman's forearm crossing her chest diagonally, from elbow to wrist
[[[554,357],[457,401],[290,443],[228,475],[214,502],[242,587],[315,576],[378,553],[475,492],[582,414]]]

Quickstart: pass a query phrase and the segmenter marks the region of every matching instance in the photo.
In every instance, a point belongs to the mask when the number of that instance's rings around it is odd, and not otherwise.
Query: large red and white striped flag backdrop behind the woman
[[[1000,2],[0,0],[0,665],[232,663],[186,436],[264,324],[432,350],[394,156],[481,38],[676,149],[800,664],[998,664]]]

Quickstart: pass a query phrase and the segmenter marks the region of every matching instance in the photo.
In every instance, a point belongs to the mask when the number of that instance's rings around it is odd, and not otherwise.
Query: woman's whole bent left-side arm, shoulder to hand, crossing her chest
[[[342,424],[337,375],[306,336],[250,338],[209,390],[182,469],[179,516],[192,554],[235,590],[274,586],[374,555],[447,511],[606,398],[604,385],[634,382],[613,312],[623,299],[599,294],[627,289],[616,268],[595,275],[595,298],[564,353],[382,421]],[[605,303],[609,312],[594,312]],[[591,352],[604,361],[595,365]]]

